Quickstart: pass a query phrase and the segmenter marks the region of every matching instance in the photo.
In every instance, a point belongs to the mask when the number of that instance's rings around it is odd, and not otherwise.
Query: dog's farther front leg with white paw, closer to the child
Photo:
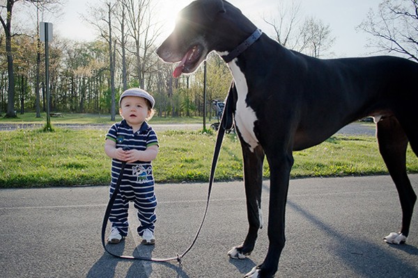
[[[239,134],[239,132],[238,132]],[[244,159],[244,183],[245,195],[247,197],[247,217],[249,229],[244,243],[233,247],[228,255],[233,259],[245,259],[251,254],[256,244],[258,229],[263,227],[261,217],[261,186],[263,182],[263,161],[264,152],[258,146],[251,152],[249,146],[242,142],[242,155]]]

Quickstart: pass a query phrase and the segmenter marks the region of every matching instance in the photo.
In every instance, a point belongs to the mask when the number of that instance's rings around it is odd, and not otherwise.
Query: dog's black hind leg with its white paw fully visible
[[[387,170],[391,175],[402,208],[402,228],[399,233],[391,233],[385,237],[387,243],[405,243],[410,231],[412,212],[417,200],[417,195],[411,186],[406,174],[406,148],[408,138],[396,117],[388,117],[377,123],[377,137],[380,154],[386,163]]]

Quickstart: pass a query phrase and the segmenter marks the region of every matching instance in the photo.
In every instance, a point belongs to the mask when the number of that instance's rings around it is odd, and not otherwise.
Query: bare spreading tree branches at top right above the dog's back
[[[417,0],[382,1],[377,13],[370,10],[357,28],[372,35],[368,47],[401,54],[418,62]]]

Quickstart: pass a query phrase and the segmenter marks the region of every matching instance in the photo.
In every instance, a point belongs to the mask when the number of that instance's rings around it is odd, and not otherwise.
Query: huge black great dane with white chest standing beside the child
[[[180,11],[173,33],[157,49],[179,62],[174,76],[191,73],[217,51],[233,75],[233,117],[242,145],[249,230],[229,252],[244,259],[254,249],[261,221],[263,159],[270,166],[269,247],[246,277],[273,277],[284,247],[284,218],[293,151],[323,142],[366,116],[377,126],[380,154],[401,199],[402,227],[385,238],[404,243],[417,196],[405,167],[408,142],[418,154],[418,64],[376,56],[322,60],[282,47],[238,8],[197,0]]]

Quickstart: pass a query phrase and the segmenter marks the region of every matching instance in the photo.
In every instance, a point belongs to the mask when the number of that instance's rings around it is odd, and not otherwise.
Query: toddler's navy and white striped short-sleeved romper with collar
[[[116,148],[127,146],[130,149],[138,149],[140,151],[144,151],[152,145],[158,145],[155,131],[146,122],[142,124],[139,131],[133,133],[132,127],[125,120],[122,120],[122,122],[111,126],[106,139],[115,141]],[[121,165],[121,161],[112,159],[110,196],[113,194],[118,181]],[[133,202],[134,208],[137,208],[137,217],[140,222],[137,228],[139,236],[142,236],[145,229],[150,229],[150,231],[154,232],[155,221],[157,220],[155,215],[157,198],[154,194],[153,166],[150,162],[136,161],[135,163],[126,163],[120,191],[109,215],[111,226],[118,228],[121,236],[127,236],[129,202]]]

